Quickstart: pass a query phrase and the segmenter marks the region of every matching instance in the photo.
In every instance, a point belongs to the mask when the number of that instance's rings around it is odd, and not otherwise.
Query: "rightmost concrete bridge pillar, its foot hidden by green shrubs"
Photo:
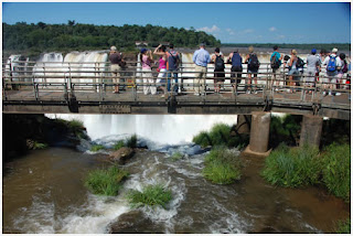
[[[304,143],[319,147],[322,132],[322,117],[303,115],[300,132],[300,147]]]

